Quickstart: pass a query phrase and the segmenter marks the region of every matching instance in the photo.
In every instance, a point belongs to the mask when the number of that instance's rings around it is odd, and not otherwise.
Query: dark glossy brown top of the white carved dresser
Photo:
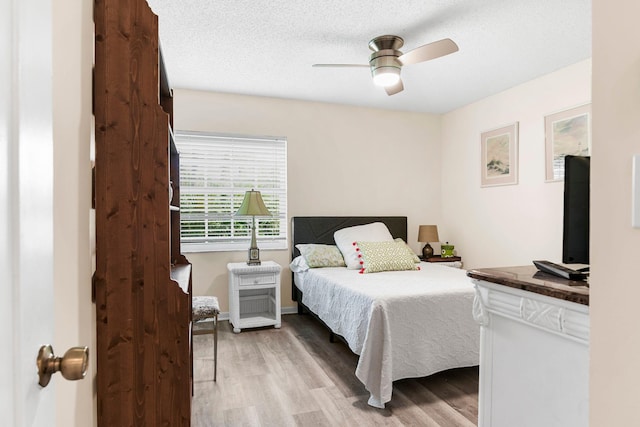
[[[534,266],[479,268],[467,276],[510,288],[589,305],[588,281],[567,280],[538,271]]]

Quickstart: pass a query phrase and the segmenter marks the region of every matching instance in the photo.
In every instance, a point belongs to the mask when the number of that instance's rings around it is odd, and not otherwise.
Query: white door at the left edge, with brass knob
[[[51,16],[51,0],[0,2],[0,424],[15,427],[55,423],[36,368],[53,339]]]

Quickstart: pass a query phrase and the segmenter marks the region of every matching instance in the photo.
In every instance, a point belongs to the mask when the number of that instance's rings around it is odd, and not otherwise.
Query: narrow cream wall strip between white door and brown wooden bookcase
[[[82,381],[66,381],[59,374],[52,378],[57,390],[55,425],[91,426],[95,420],[89,161],[93,2],[55,0],[51,4],[56,295],[52,345],[57,356],[70,347],[86,345],[91,357],[87,377]]]

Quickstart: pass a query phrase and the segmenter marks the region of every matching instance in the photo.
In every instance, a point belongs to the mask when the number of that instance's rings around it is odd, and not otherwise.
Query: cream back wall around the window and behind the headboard
[[[175,91],[174,111],[175,129],[287,137],[289,217],[406,215],[416,252],[418,225],[440,222],[439,116],[190,90]],[[226,264],[246,252],[187,257],[194,295],[228,311]],[[261,258],[286,267],[290,251]],[[282,306],[294,305],[287,268]]]

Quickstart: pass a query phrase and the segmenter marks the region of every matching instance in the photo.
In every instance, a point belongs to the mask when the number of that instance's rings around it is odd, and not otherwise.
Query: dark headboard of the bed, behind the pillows
[[[291,259],[300,255],[298,243],[335,245],[333,233],[354,225],[382,222],[394,238],[407,241],[406,216],[295,216],[291,218]]]

